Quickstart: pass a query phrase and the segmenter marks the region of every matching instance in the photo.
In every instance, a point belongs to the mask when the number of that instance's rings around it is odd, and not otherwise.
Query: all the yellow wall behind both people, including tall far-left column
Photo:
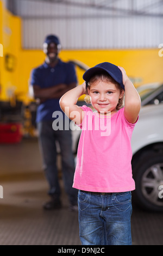
[[[2,15],[1,15],[2,14]],[[42,50],[23,50],[21,48],[21,19],[2,8],[0,1],[0,44],[4,47],[4,57],[0,57],[2,93],[1,100],[8,100],[8,89],[15,88],[18,99],[28,101],[30,72],[40,65],[45,54]],[[159,57],[159,48],[131,50],[62,50],[62,60],[79,60],[87,66],[101,62],[111,62],[123,66],[135,87],[145,83],[163,82],[163,57]],[[5,69],[5,54],[11,54],[14,69]],[[79,83],[83,82],[84,71],[77,68]]]

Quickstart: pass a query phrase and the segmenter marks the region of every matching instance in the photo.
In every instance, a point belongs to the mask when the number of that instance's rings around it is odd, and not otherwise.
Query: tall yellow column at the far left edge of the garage
[[[21,20],[5,10],[0,2],[0,43],[3,45],[1,58],[1,99],[8,98],[11,91],[20,88],[18,80],[21,50]],[[7,58],[8,56],[8,58]]]

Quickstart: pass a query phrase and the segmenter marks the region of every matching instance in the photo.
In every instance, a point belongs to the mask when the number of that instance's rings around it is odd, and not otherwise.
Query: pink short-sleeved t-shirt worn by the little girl
[[[135,124],[124,108],[111,117],[82,106],[83,123],[73,187],[91,192],[126,192],[135,189],[131,169],[131,135]]]

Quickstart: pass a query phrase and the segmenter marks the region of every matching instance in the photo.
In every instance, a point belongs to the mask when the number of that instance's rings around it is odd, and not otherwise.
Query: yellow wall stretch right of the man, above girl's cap
[[[158,49],[63,51],[62,59],[78,59],[88,66],[111,62],[123,66],[135,87],[144,83],[163,82],[163,58]],[[81,76],[82,74],[80,74]]]

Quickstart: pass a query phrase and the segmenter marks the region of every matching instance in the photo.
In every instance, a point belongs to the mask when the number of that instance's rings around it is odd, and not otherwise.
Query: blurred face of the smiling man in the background
[[[50,62],[54,62],[54,60],[56,60],[58,57],[59,49],[57,44],[54,44],[54,42],[44,44],[43,51],[46,53]]]

